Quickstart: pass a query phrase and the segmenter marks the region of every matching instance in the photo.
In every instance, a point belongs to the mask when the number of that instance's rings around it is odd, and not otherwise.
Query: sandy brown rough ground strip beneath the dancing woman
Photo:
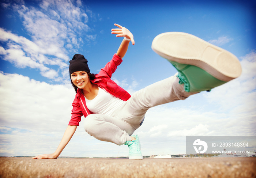
[[[256,158],[0,157],[1,178],[255,178]]]

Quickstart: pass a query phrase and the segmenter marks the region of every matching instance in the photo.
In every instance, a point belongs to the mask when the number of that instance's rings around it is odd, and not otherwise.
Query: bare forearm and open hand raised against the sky
[[[119,27],[119,29],[112,29],[112,34],[117,34],[116,37],[125,37],[127,39],[130,39],[132,44],[135,44],[135,41],[133,39],[133,35],[132,33],[125,27],[122,27],[121,25],[118,24],[114,24],[115,26]],[[127,52],[128,46],[129,46],[129,42],[125,39],[123,39],[121,45],[119,46],[118,50],[117,50],[117,56],[123,58],[125,53]]]

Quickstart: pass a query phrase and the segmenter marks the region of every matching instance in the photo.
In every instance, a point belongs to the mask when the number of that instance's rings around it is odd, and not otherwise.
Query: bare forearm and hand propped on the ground
[[[53,154],[44,154],[35,156],[32,159],[56,159],[61,154],[65,146],[68,144],[69,140],[72,138],[76,131],[77,126],[76,125],[68,125],[62,140],[60,141],[59,147],[56,149],[56,151]]]

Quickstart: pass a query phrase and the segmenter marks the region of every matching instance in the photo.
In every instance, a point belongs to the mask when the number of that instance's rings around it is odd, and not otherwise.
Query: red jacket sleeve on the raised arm
[[[104,68],[99,71],[98,75],[105,76],[111,78],[112,73],[114,73],[117,69],[117,66],[120,65],[123,62],[123,60],[114,54],[111,61],[109,61]]]

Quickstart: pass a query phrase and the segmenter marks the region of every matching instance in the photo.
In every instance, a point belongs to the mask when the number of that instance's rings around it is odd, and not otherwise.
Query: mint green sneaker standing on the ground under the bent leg
[[[125,145],[129,147],[129,159],[143,159],[141,149],[140,149],[140,140],[138,135],[132,135],[136,140],[126,141]]]

